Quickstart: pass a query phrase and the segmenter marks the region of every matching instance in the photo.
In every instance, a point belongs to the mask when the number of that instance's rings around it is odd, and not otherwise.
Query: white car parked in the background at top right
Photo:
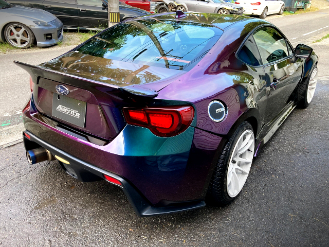
[[[282,14],[284,11],[281,0],[237,0],[235,4],[243,7],[244,14],[259,15],[262,19],[268,14]]]

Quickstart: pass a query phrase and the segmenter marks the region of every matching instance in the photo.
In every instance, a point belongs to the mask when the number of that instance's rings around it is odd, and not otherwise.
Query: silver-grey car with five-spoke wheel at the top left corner
[[[19,48],[50,46],[63,40],[63,23],[41,9],[15,6],[0,0],[0,42]]]

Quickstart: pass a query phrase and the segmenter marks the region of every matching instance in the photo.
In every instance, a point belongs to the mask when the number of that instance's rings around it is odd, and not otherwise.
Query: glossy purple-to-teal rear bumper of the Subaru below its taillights
[[[40,114],[33,97],[23,110],[23,121],[33,142],[72,162],[77,179],[97,181],[104,179],[103,174],[115,174],[134,188],[134,195],[138,194],[144,203],[130,194],[127,197],[132,204],[142,205],[134,206],[141,216],[204,206],[212,172],[225,143],[222,137],[194,127],[165,138],[155,136],[149,129],[126,125],[112,142],[97,145]]]

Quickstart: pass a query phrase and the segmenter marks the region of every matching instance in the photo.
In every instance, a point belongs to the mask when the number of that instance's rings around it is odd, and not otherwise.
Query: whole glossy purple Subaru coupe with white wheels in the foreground
[[[206,196],[225,205],[253,156],[312,100],[317,62],[247,16],[122,22],[49,62],[15,62],[31,75],[28,161],[56,158],[80,181],[115,184],[140,216],[202,207]]]

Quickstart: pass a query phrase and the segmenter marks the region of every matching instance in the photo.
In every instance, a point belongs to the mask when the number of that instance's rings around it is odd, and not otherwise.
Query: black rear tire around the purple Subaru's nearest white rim
[[[252,126],[248,121],[241,123],[239,127],[235,130],[231,138],[225,144],[220,158],[216,163],[209,188],[207,191],[207,202],[214,205],[226,205],[233,201],[235,197],[230,197],[227,191],[227,172],[229,167],[229,162],[234,149],[234,146],[239,139],[239,137],[246,131],[251,130],[253,132]],[[239,193],[237,194],[237,196]]]

